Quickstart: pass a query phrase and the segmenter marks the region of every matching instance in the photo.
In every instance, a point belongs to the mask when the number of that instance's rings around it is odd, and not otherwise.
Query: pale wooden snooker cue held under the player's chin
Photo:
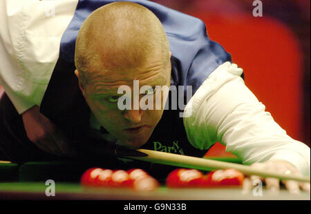
[[[274,171],[266,171],[253,168],[252,166],[247,166],[243,164],[234,164],[228,162],[221,162],[212,159],[205,159],[202,157],[191,157],[187,155],[178,155],[172,153],[164,153],[155,150],[147,149],[137,149],[139,153],[146,154],[145,156],[136,156],[136,155],[124,155],[123,157],[129,157],[131,159],[138,159],[145,162],[152,162],[156,164],[166,164],[171,166],[179,166],[185,168],[195,168],[202,171],[211,171],[216,169],[225,169],[225,168],[234,168],[245,175],[258,175],[261,177],[275,177],[278,179],[289,179],[298,182],[309,182],[310,177],[298,176],[298,175],[285,175],[283,173],[276,173]]]

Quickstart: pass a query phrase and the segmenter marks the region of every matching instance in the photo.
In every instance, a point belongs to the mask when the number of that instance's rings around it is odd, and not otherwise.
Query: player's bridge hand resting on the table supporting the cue
[[[292,175],[301,175],[298,169],[290,164],[290,162],[284,160],[270,160],[263,163],[252,164],[254,168],[258,168],[266,171],[274,171],[279,173],[292,174]],[[266,188],[270,193],[279,193],[280,190],[280,180],[273,177],[259,177],[257,175],[252,175],[246,177],[243,182],[243,193],[249,193],[253,184],[256,184],[256,179],[265,182]],[[293,180],[282,180],[281,181],[290,193],[299,194],[301,189],[303,191],[308,191],[310,193],[310,183],[296,182]]]

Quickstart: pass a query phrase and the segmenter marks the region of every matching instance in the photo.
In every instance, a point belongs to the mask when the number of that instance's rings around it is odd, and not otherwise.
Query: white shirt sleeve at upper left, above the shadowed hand
[[[0,1],[0,84],[19,113],[41,104],[77,2]]]

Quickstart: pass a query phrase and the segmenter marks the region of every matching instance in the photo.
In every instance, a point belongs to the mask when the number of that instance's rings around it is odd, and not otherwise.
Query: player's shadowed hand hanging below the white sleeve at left
[[[74,156],[66,137],[48,118],[39,111],[39,106],[33,106],[21,115],[28,139],[41,150],[57,156]]]

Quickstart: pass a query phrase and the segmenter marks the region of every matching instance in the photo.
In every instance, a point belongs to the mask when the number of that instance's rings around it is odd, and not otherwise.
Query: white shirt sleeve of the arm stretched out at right
[[[310,148],[288,136],[245,86],[243,70],[226,62],[203,82],[185,108],[189,142],[207,149],[220,142],[243,164],[286,160],[310,175]]]

